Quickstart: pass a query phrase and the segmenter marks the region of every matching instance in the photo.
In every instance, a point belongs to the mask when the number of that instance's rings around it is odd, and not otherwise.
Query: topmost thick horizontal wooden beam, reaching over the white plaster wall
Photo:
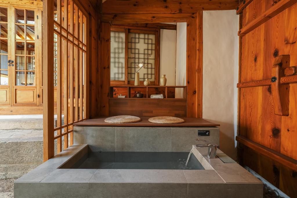
[[[202,10],[230,10],[238,7],[238,0],[107,0],[103,14],[175,14]]]

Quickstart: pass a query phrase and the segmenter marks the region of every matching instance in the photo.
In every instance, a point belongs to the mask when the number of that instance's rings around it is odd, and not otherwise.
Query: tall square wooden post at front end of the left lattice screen
[[[53,0],[43,0],[43,161],[54,156]]]

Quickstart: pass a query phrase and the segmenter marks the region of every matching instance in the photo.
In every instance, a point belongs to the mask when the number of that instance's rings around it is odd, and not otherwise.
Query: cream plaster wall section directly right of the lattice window
[[[176,30],[161,29],[160,45],[160,77],[165,74],[167,78],[166,85],[174,86],[176,66]]]

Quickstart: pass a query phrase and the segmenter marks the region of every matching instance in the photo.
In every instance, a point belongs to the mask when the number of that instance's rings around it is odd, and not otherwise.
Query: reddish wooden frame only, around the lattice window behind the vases
[[[155,80],[150,81],[151,85],[159,85],[160,77],[160,29],[159,28],[141,28],[130,26],[111,26],[110,31],[125,32],[125,80],[110,80],[110,85],[134,85],[134,80],[128,80],[128,34],[155,34]],[[110,54],[109,54],[110,56]],[[143,84],[144,81],[140,81]]]

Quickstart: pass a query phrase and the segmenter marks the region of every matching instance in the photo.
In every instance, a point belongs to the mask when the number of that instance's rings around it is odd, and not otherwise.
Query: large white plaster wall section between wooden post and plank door
[[[236,159],[238,15],[203,11],[203,118],[220,126],[220,149]]]

